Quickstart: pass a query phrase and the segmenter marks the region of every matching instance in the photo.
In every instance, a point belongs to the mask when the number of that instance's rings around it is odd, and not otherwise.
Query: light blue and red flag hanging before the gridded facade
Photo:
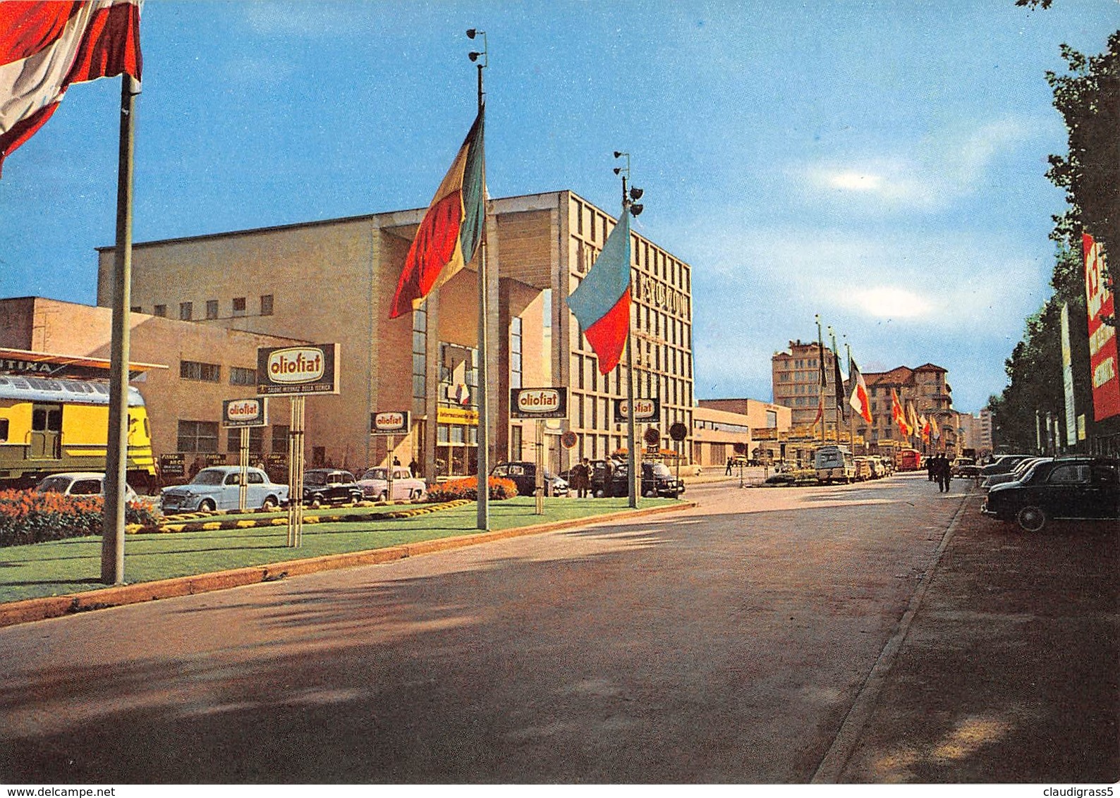
[[[624,208],[591,270],[568,297],[568,307],[599,356],[599,374],[618,365],[629,335],[629,208]]]

